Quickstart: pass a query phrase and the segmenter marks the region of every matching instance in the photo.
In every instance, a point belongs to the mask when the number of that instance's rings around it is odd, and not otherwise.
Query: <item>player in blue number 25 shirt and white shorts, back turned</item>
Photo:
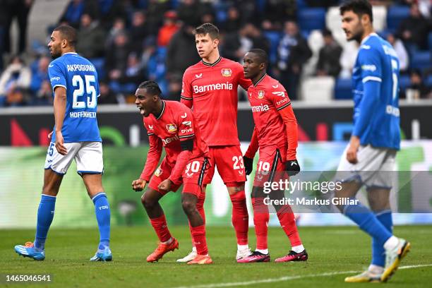
[[[72,160],[83,178],[88,196],[95,204],[100,243],[90,261],[110,261],[110,210],[102,187],[102,138],[96,111],[99,84],[95,66],[75,52],[76,30],[68,25],[54,29],[49,51],[54,61],[48,73],[54,92],[55,126],[45,161],[44,186],[37,210],[34,244],[15,246],[21,256],[44,260],[45,241],[54,217],[56,196],[61,180]]]

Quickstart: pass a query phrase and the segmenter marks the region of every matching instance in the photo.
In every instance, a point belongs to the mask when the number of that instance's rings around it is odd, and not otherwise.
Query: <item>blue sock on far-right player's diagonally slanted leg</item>
[[[380,245],[387,241],[392,233],[381,224],[375,214],[361,203],[356,205],[345,205],[344,215],[359,225],[360,229],[369,234]]]

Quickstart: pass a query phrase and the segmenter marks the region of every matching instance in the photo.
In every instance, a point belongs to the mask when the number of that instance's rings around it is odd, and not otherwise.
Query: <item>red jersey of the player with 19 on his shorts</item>
[[[284,86],[265,74],[255,85],[249,87],[248,100],[251,103],[260,148],[270,145],[278,148],[287,146],[287,128],[279,112],[291,104]],[[294,113],[292,117],[295,121]],[[293,148],[295,151],[296,143]]]

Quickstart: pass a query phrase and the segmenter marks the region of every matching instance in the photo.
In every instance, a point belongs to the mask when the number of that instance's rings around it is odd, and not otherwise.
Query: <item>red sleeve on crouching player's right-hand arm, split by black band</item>
[[[195,132],[193,131],[193,115],[191,109],[184,107],[179,112],[177,119],[177,126],[179,126],[179,139],[180,141],[193,140]],[[189,159],[192,156],[192,151],[183,150],[180,152],[176,159],[176,165],[172,169],[169,180],[174,184],[181,184],[181,174],[183,174]]]

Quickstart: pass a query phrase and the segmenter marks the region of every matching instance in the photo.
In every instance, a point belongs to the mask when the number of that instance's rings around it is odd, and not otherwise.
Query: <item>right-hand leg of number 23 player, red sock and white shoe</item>
[[[227,189],[232,203],[232,226],[236,231],[236,260],[239,260],[251,254],[248,245],[249,215],[246,194],[244,193],[244,182],[227,183]]]

